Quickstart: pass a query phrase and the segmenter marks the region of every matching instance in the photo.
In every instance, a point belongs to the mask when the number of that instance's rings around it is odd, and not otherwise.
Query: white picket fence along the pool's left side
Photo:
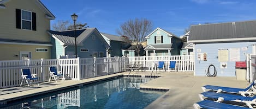
[[[24,68],[30,68],[32,74],[37,74],[38,82],[49,80],[50,66],[61,70],[65,79],[80,80],[123,72],[125,60],[127,57],[0,61],[0,88],[19,86],[21,69]]]

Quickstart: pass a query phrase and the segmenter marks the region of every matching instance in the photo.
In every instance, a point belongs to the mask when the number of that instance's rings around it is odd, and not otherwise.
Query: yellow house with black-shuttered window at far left
[[[50,20],[39,0],[0,0],[0,60],[50,59]]]

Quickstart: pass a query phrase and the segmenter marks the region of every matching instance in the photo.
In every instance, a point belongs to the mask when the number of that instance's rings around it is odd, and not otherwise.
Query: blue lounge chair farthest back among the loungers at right
[[[249,85],[247,88],[232,88],[232,87],[221,87],[221,86],[211,86],[211,85],[206,85],[203,86],[202,89],[204,92],[206,92],[206,89],[210,89],[212,91],[217,91],[219,92],[228,92],[228,93],[239,93],[242,96],[246,97],[248,94],[251,96],[253,93],[256,93],[256,89],[254,88],[255,82],[252,82],[251,85]]]

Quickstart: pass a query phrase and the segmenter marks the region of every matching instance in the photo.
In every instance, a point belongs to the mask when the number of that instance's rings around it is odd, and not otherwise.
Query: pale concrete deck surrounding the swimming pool
[[[35,94],[49,93],[50,91],[57,91],[59,89],[79,86],[82,84],[89,84],[93,81],[99,81],[108,78],[114,78],[115,76],[122,75],[150,75],[151,72],[124,72],[106,76],[99,76],[97,78],[90,78],[84,80],[66,80],[62,82],[44,82],[40,86],[33,85],[32,87],[11,87],[0,89],[0,103],[5,101],[16,100],[18,98],[32,97]],[[247,81],[238,81],[235,78],[230,77],[215,77],[208,78],[205,76],[193,76],[190,72],[155,72],[153,75],[161,76],[140,85],[141,88],[158,88],[158,89],[170,89],[164,95],[159,97],[148,105],[147,109],[153,108],[193,108],[193,104],[200,99],[198,94],[203,92],[201,86],[204,85],[218,85],[228,87],[245,88],[249,85]]]

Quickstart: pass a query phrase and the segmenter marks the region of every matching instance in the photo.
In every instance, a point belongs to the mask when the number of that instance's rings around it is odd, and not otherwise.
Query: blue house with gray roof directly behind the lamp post
[[[49,31],[52,36],[52,58],[75,55],[74,30]],[[96,28],[76,30],[76,43],[78,57],[106,57],[109,44],[104,40]]]

